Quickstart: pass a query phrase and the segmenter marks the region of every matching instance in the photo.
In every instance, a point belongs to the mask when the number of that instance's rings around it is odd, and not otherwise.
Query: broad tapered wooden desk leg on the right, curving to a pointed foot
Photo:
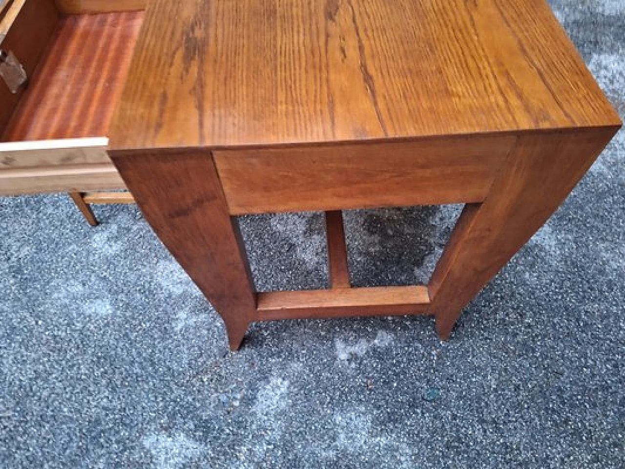
[[[616,127],[518,137],[486,200],[467,205],[429,284],[446,340],[462,309],[566,198]]]

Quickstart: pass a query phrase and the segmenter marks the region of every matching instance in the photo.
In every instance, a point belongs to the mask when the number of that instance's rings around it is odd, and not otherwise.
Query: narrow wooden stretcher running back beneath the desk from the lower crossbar
[[[341,210],[326,212],[327,270],[332,289],[348,289],[349,266],[347,265],[347,245]]]

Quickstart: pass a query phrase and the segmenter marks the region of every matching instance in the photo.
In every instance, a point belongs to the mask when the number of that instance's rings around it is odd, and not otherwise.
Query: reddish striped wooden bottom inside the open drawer
[[[142,21],[143,12],[61,19],[3,140],[107,136]]]

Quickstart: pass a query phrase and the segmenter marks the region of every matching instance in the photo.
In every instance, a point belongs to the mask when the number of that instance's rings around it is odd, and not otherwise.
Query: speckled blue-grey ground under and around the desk
[[[552,0],[621,116],[625,1]],[[625,133],[462,316],[221,320],[135,207],[0,199],[0,468],[622,468]],[[424,280],[457,207],[347,216],[356,284]],[[261,289],[319,215],[242,221]],[[303,241],[302,241],[303,240]]]

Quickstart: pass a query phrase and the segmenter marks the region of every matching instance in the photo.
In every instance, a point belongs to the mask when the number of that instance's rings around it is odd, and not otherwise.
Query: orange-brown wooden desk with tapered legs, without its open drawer
[[[224,318],[442,339],[621,126],[542,0],[150,0],[109,155]],[[466,203],[428,285],[351,289],[341,209]],[[326,210],[329,290],[254,291],[235,215]]]

